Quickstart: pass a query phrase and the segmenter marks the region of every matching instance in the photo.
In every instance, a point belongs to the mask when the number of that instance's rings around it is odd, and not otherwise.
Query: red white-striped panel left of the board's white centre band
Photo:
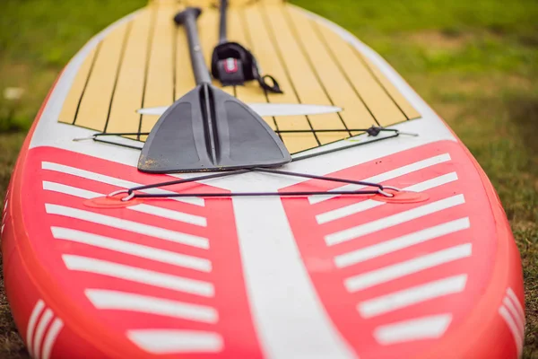
[[[105,178],[139,184],[156,180],[135,168],[79,153],[30,150],[19,208],[27,235],[21,240],[30,239],[24,245],[24,261],[43,292],[38,298],[46,296],[49,305],[56,304],[55,315],[66,325],[79,327],[79,336],[91,333],[91,340],[100,343],[97,346],[116,346],[114,351],[129,355],[151,355],[147,349],[151,344],[141,350],[136,342],[150,340],[143,337],[144,329],[162,329],[178,330],[178,337],[185,335],[193,343],[200,340],[202,344],[191,351],[198,352],[195,357],[261,356],[247,305],[237,233],[230,225],[231,200],[204,201],[200,206],[200,202],[150,199],[140,209],[184,215],[178,220],[132,209],[140,204],[86,206],[79,197],[87,194],[83,191],[108,194],[121,189],[100,181]],[[162,180],[166,178],[159,176]],[[185,188],[217,190],[200,184],[181,187]],[[143,305],[145,297],[158,298],[169,315],[115,310],[113,302],[126,294],[136,296],[139,304],[134,305]],[[114,295],[117,299],[110,299]],[[44,311],[39,311],[39,322]],[[42,339],[38,342],[40,348]],[[169,350],[169,355],[177,354]]]

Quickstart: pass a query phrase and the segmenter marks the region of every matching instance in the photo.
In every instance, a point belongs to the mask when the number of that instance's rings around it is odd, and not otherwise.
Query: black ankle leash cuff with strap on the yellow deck
[[[260,74],[256,57],[237,42],[228,41],[227,28],[228,0],[221,0],[221,24],[219,44],[213,49],[211,72],[223,86],[242,85],[256,80],[268,92],[282,93],[273,76]]]

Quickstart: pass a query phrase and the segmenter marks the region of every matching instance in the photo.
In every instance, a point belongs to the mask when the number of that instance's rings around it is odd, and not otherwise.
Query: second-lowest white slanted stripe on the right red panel
[[[467,275],[450,276],[360,302],[357,305],[357,310],[362,318],[372,318],[444,295],[460,293],[464,290],[466,282]]]

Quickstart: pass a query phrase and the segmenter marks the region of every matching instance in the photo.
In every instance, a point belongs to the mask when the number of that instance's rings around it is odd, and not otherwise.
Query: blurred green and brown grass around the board
[[[538,358],[538,2],[293,0],[356,34],[445,118],[499,192],[523,259],[524,358]],[[0,199],[56,75],[145,0],[0,0]],[[22,89],[8,100],[6,89]],[[10,92],[10,90],[7,90]],[[0,357],[26,358],[0,292]]]

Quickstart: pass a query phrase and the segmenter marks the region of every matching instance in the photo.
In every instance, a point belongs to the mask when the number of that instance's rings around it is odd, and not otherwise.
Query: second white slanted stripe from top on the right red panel
[[[438,176],[434,179],[425,180],[421,183],[417,183],[412,186],[403,188],[403,190],[413,191],[413,192],[422,192],[431,188],[442,186],[444,184],[453,182],[455,180],[457,180],[456,172],[450,172],[450,173]],[[325,212],[324,214],[317,215],[316,221],[319,224],[323,224],[323,223],[331,222],[331,221],[334,221],[343,217],[347,217],[349,215],[355,215],[362,211],[366,211],[368,209],[375,208],[377,206],[382,206],[385,204],[386,202],[383,202],[383,201],[367,199],[359,203],[354,203],[350,206],[343,206],[340,208],[336,208],[332,211]]]

